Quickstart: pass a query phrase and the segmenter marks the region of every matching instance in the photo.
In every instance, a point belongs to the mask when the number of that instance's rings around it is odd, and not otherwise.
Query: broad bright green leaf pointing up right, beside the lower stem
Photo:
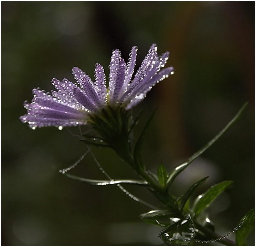
[[[204,210],[204,208],[209,207],[210,203],[219,195],[219,193],[224,191],[231,183],[233,182],[223,181],[212,186],[205,193],[198,196],[193,205],[194,217],[197,217],[202,212],[202,210]]]

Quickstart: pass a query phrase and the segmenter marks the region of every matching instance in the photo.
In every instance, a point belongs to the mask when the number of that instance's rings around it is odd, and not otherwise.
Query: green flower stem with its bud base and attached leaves
[[[189,166],[199,155],[205,152],[212,144],[214,144],[229,128],[239,119],[241,113],[247,103],[237,112],[235,117],[219,132],[211,141],[209,141],[202,149],[194,153],[187,161],[176,167],[168,173],[163,164],[158,166],[158,173],[153,174],[146,169],[145,164],[141,159],[141,149],[146,132],[153,120],[155,112],[149,117],[143,128],[137,142],[132,149],[132,132],[138,122],[141,113],[133,122],[129,111],[123,108],[113,109],[111,107],[102,110],[100,114],[91,115],[91,124],[100,136],[84,135],[81,141],[86,144],[93,144],[96,147],[110,147],[116,151],[118,156],[126,161],[126,163],[140,176],[143,180],[132,179],[115,179],[115,180],[92,180],[84,179],[70,174],[65,174],[71,179],[89,183],[92,185],[113,185],[121,183],[129,183],[147,187],[162,203],[159,210],[153,210],[141,215],[141,218],[148,223],[166,227],[160,232],[161,239],[171,245],[187,245],[190,244],[197,233],[196,229],[203,233],[204,238],[212,240],[219,238],[211,226],[207,227],[206,221],[199,222],[198,215],[209,206],[209,204],[227,188],[232,182],[224,181],[215,186],[212,186],[206,193],[202,194],[195,200],[192,209],[190,209],[189,199],[194,190],[204,183],[208,178],[205,177],[194,183],[184,194],[179,198],[175,198],[169,188],[174,179]],[[176,238],[174,237],[176,236]],[[180,237],[179,237],[180,236]],[[195,240],[196,241],[196,240]],[[223,245],[235,245],[233,241],[228,239],[218,239]]]

